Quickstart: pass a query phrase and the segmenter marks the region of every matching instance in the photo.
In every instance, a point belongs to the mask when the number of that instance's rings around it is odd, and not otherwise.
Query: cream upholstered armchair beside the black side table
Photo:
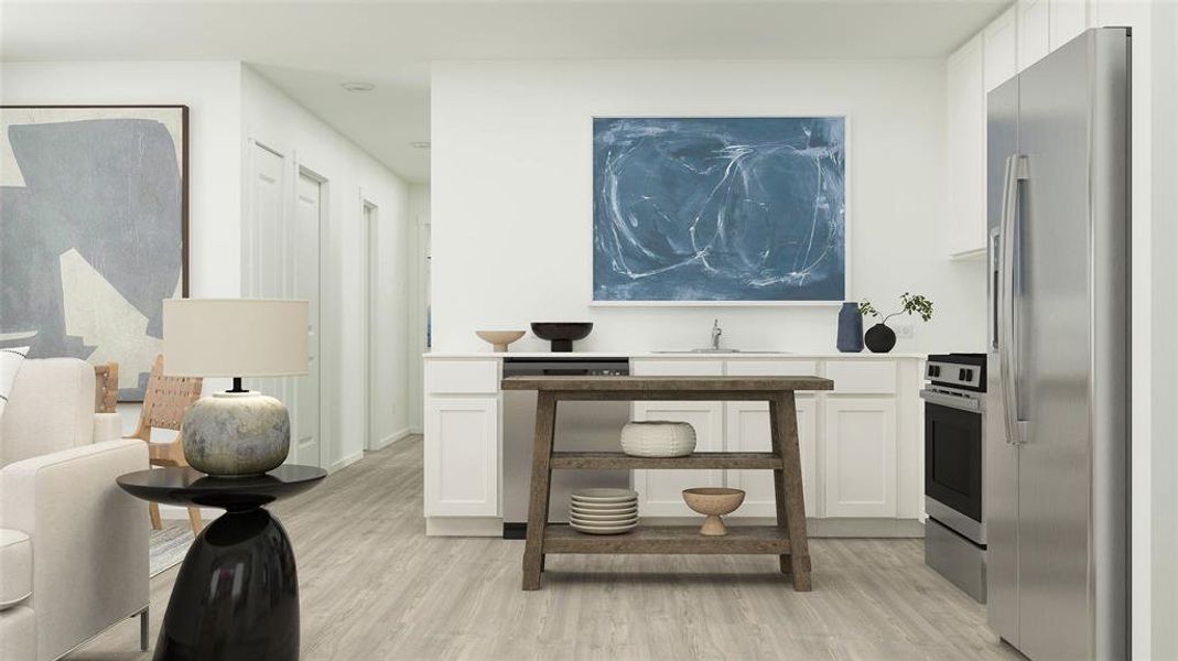
[[[147,468],[94,412],[94,369],[25,361],[0,416],[0,660],[52,660],[143,615],[147,505],[114,478]]]

